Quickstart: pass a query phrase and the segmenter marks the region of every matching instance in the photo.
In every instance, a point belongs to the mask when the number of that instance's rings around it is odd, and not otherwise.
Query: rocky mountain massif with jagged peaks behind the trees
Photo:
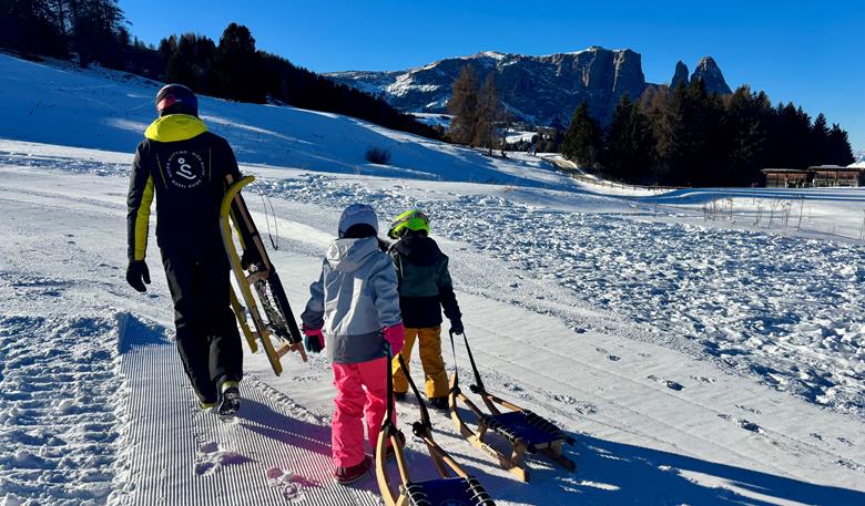
[[[505,106],[518,118],[539,125],[567,125],[583,100],[589,101],[596,117],[607,122],[622,94],[629,93],[635,100],[651,85],[645,82],[640,53],[599,47],[546,56],[486,51],[407,71],[327,75],[343,84],[383,94],[391,105],[406,112],[444,113],[454,80],[466,65],[474,68],[481,82],[495,72]],[[680,72],[683,72],[681,76]],[[700,62],[694,75],[718,89],[723,84],[726,93],[730,92],[711,58]],[[683,63],[676,65],[673,79],[688,81],[688,68]]]

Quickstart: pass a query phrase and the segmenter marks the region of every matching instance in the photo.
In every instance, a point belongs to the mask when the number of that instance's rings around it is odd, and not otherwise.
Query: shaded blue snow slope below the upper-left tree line
[[[0,53],[0,138],[128,152],[153,121],[159,84],[113,71],[34,63]],[[360,120],[294,107],[201,97],[202,118],[253,164],[344,174],[509,184],[568,185],[539,162],[501,161]],[[388,149],[388,166],[365,159]],[[527,171],[536,168],[536,171]]]

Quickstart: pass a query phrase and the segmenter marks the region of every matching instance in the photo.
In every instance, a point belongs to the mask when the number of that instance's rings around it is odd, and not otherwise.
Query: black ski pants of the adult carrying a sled
[[[174,300],[177,351],[203,402],[217,400],[223,381],[241,381],[243,349],[231,309],[226,256],[195,256],[162,250],[162,265]]]

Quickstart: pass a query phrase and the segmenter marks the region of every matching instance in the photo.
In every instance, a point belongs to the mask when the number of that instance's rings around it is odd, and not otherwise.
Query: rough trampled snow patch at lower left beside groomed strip
[[[7,275],[0,282],[30,296],[62,290],[47,279]],[[112,496],[125,416],[116,339],[111,317],[0,317],[4,504],[104,504]]]

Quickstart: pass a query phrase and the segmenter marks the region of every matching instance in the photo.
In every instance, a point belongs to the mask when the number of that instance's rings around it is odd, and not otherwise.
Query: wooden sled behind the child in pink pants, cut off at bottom
[[[399,357],[403,370],[408,371]],[[376,479],[381,497],[385,499],[385,506],[495,506],[496,503],[484,489],[480,483],[469,476],[462,467],[457,464],[448,453],[432,440],[432,425],[429,422],[429,412],[420,393],[408,378],[409,385],[415,392],[415,396],[420,404],[420,421],[411,426],[416,436],[424,440],[429,451],[438,475],[437,479],[427,479],[423,482],[413,482],[408,474],[403,446],[399,441],[398,430],[390,421],[394,412],[394,384],[393,371],[390,368],[390,353],[387,361],[387,391],[388,405],[387,415],[381,423],[381,432],[378,433],[376,444]],[[399,469],[400,484],[395,490],[390,485],[387,474],[387,444],[394,447],[397,468]]]

